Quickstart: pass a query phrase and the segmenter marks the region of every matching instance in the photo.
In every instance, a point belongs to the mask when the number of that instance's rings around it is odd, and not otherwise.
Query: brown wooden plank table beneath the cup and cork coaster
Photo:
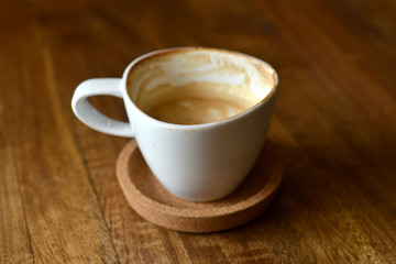
[[[396,263],[396,6],[382,1],[0,3],[0,263]],[[127,204],[129,141],[73,114],[75,87],[133,58],[212,46],[272,64],[285,173],[230,231],[158,228]],[[125,119],[121,100],[96,98]]]

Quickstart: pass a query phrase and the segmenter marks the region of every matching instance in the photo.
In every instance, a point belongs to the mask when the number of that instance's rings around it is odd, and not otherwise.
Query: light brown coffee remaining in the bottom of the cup
[[[237,116],[261,99],[248,89],[191,82],[180,87],[158,87],[151,91],[150,100],[150,103],[140,105],[154,119],[176,124],[201,124]]]

